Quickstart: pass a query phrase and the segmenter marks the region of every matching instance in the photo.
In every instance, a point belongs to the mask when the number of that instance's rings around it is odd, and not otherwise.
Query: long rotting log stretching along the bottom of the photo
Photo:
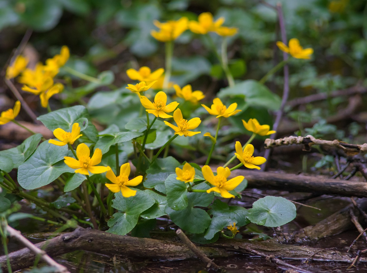
[[[196,258],[195,254],[182,243],[177,241],[156,240],[119,236],[99,230],[78,228],[74,232],[66,233],[48,241],[36,244],[51,257],[62,255],[75,250],[97,252],[104,255],[122,255],[129,258],[146,259],[188,259]],[[288,259],[312,259],[328,262],[352,262],[352,254],[336,250],[313,248],[307,246],[293,246],[272,243],[268,241],[254,242],[239,239],[220,239],[216,243],[198,246],[209,258],[228,257],[230,255],[252,254],[255,250],[261,255]],[[312,255],[314,254],[314,255]],[[310,258],[310,255],[312,257]],[[9,254],[12,269],[20,270],[33,265],[34,253],[28,248]],[[361,258],[360,262],[367,262]],[[6,269],[6,256],[0,257],[3,269]]]

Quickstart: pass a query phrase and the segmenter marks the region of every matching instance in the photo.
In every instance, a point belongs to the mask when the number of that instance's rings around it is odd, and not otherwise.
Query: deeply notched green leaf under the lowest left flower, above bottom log
[[[135,196],[124,198],[121,192],[115,193],[112,207],[121,212],[113,214],[107,224],[110,227],[107,232],[118,235],[126,235],[138,222],[139,215],[155,204],[154,198],[145,191],[137,190]]]

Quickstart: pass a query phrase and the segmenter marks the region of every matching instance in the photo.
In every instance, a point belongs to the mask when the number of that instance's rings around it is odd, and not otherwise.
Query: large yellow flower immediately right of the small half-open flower
[[[203,172],[204,178],[213,186],[214,188],[210,188],[207,190],[207,193],[210,192],[218,192],[221,194],[223,198],[233,198],[235,197],[233,194],[230,194],[228,191],[232,191],[235,189],[244,179],[243,176],[236,176],[227,181],[227,177],[230,176],[230,170],[228,167],[218,167],[217,175],[214,176],[213,171],[210,169],[208,165],[205,165],[201,168]]]

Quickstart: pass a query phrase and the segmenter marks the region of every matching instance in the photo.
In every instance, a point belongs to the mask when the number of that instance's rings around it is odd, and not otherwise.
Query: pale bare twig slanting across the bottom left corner
[[[43,250],[40,250],[38,247],[34,246],[30,241],[28,241],[25,237],[22,236],[22,233],[10,226],[6,228],[7,232],[11,237],[15,237],[19,242],[25,245],[29,250],[31,250],[34,254],[39,255],[43,261],[48,263],[50,266],[54,266],[59,273],[70,273],[69,270],[59,263],[55,262],[47,253]]]

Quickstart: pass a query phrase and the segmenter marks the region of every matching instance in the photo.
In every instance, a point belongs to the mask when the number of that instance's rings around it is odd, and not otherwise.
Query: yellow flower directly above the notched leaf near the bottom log
[[[113,171],[110,167],[108,167],[108,171],[106,173],[106,177],[110,180],[113,184],[105,184],[106,187],[112,192],[119,192],[121,191],[122,196],[130,197],[135,196],[137,191],[134,191],[127,186],[137,186],[143,180],[142,176],[137,176],[129,180],[130,174],[130,163],[125,163],[121,165],[120,168],[120,175],[115,176]]]

